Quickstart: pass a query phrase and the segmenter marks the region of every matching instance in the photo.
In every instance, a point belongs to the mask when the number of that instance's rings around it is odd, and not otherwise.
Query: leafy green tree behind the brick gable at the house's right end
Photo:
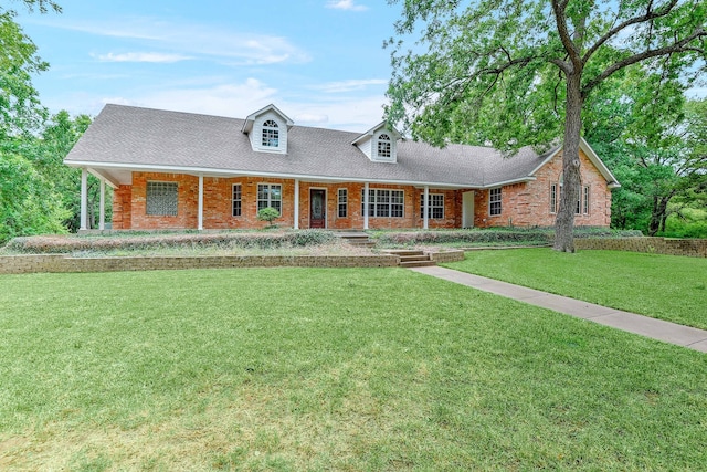
[[[701,102],[685,101],[686,85],[668,72],[635,67],[585,107],[585,137],[622,183],[612,224],[651,235],[698,198],[707,165],[699,150],[707,114],[698,112]]]

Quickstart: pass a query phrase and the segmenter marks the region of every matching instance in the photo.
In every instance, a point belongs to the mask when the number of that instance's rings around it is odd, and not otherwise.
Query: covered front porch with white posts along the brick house
[[[88,174],[99,179],[102,196],[106,186],[114,190],[116,230],[256,229],[264,225],[257,220],[257,210],[264,207],[281,212],[276,224],[293,229],[472,228],[482,223],[485,209],[485,190],[434,183],[84,168],[82,230],[88,229]],[[175,189],[171,210],[152,204],[155,182]],[[103,230],[103,198],[101,209],[98,229]]]

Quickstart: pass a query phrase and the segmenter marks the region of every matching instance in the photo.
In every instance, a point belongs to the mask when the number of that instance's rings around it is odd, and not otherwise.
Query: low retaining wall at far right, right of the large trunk
[[[576,238],[577,250],[601,249],[707,258],[707,240],[671,238]]]

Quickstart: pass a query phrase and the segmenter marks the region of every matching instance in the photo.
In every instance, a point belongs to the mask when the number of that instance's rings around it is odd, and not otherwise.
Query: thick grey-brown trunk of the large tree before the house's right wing
[[[562,252],[574,252],[574,212],[579,199],[579,140],[582,129],[581,74],[567,74],[567,103],[564,106],[564,140],[562,144],[562,175],[564,185],[560,209],[555,220],[555,245]]]

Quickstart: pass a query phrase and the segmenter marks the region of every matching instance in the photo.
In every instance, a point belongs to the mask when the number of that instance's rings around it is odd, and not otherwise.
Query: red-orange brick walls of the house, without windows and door
[[[582,186],[589,187],[588,212],[578,214],[577,225],[608,227],[611,221],[611,191],[605,179],[581,153]],[[536,180],[504,186],[502,188],[502,211],[489,214],[489,190],[457,189],[429,192],[444,196],[444,218],[430,218],[429,228],[462,228],[464,193],[474,191],[474,225],[487,227],[549,227],[555,223],[555,212],[550,208],[550,186],[559,183],[562,158],[558,154],[536,174]],[[147,214],[147,182],[162,181],[178,185],[177,216]],[[257,220],[257,186],[270,183],[282,186],[282,216],[275,223],[294,227],[295,180],[258,177],[203,178],[203,228],[244,229],[262,228],[266,223]],[[241,216],[233,216],[233,185],[241,186]],[[403,216],[398,218],[369,217],[371,229],[423,228],[421,218],[422,188],[370,183],[370,189],[402,190]],[[557,187],[559,189],[559,185]],[[299,228],[309,228],[310,189],[326,191],[326,228],[362,229],[363,183],[299,182]],[[346,217],[338,213],[338,190],[347,190]],[[559,198],[559,190],[558,190]],[[133,185],[120,186],[114,192],[114,229],[196,229],[198,228],[199,178],[182,174],[133,172]],[[582,208],[583,210],[583,208]]]

